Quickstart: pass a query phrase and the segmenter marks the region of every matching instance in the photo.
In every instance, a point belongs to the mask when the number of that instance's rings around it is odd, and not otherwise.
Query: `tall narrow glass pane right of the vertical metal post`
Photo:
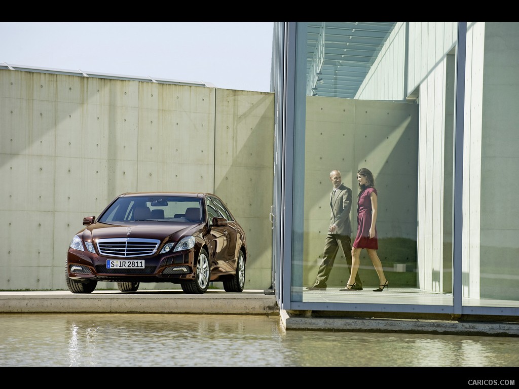
[[[519,29],[500,22],[472,22],[467,28],[472,82],[463,161],[462,304],[517,308]]]

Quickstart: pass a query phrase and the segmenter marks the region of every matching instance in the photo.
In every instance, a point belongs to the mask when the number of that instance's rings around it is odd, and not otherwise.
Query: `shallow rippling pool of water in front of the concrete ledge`
[[[0,366],[518,366],[519,338],[285,332],[278,316],[2,314]]]

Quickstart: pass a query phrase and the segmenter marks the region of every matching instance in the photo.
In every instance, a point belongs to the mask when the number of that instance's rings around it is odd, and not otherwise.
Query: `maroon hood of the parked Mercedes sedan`
[[[95,223],[83,230],[81,233],[84,240],[98,240],[109,238],[144,238],[144,239],[164,239],[171,237],[177,241],[185,235],[195,234],[201,224],[185,223],[161,223],[150,222],[149,224],[139,225],[110,225]]]

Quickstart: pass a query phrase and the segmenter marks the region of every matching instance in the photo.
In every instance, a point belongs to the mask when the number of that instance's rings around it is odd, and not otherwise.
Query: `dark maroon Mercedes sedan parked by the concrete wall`
[[[98,281],[125,292],[141,282],[180,284],[190,294],[205,293],[213,281],[243,290],[245,232],[211,193],[124,193],[83,225],[66,259],[72,293],[91,293]]]

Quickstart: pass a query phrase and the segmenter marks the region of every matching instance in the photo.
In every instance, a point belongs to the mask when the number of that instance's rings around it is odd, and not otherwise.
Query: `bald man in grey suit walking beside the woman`
[[[326,281],[330,277],[339,246],[346,258],[348,271],[351,271],[351,189],[343,185],[338,170],[330,172],[330,181],[333,184],[333,191],[330,194],[330,227],[324,240],[323,259],[317,272],[316,282],[307,287],[309,290],[326,290]],[[355,281],[357,285],[354,289],[362,290],[359,272],[357,272]]]

